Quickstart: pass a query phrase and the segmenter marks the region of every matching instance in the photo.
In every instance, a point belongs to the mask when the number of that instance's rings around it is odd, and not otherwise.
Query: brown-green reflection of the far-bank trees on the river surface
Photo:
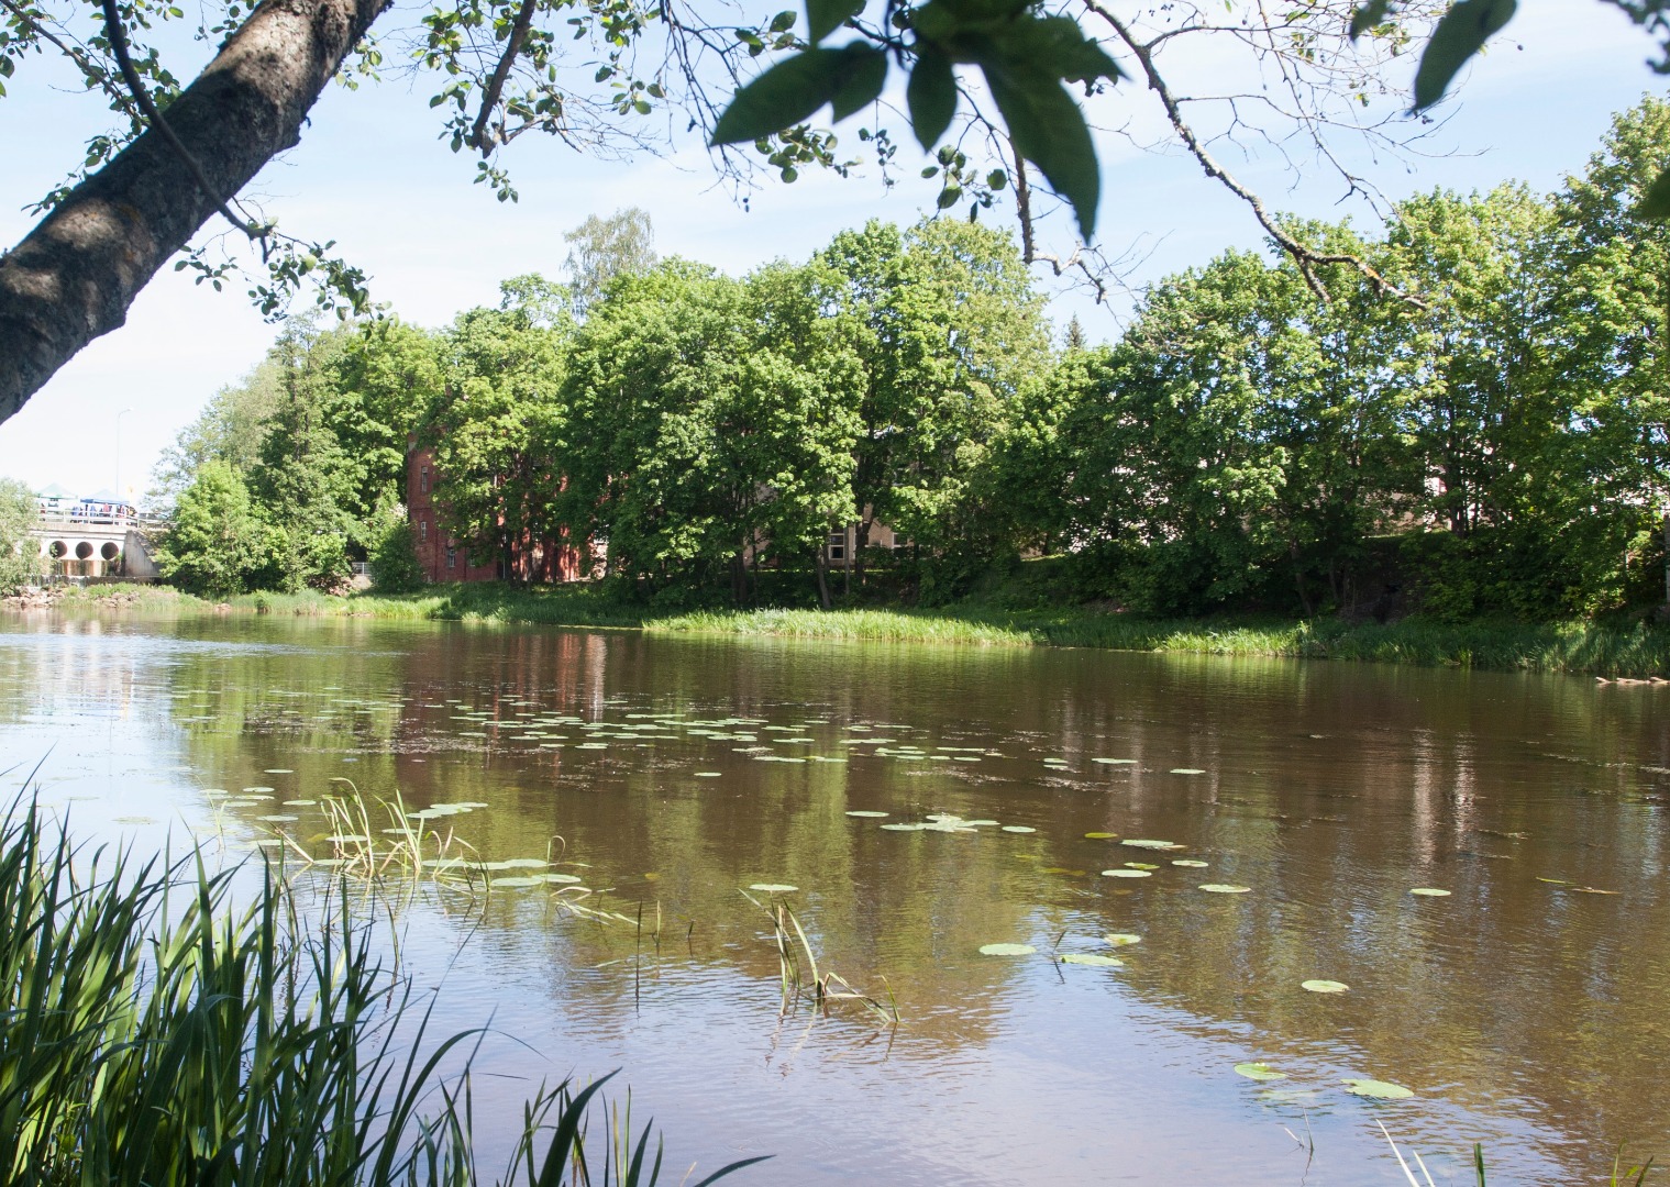
[[[179,676],[177,688],[219,691],[212,730],[192,733],[205,771],[294,766],[314,783],[349,773],[371,791],[397,786],[414,805],[489,801],[451,823],[496,856],[563,836],[628,913],[661,903],[665,952],[683,950],[666,937],[688,927],[690,958],[770,982],[775,955],[736,886],[800,885],[820,957],[872,988],[885,973],[922,1037],[992,1033],[994,990],[1020,967],[974,957],[980,943],[1047,943],[1069,923],[1074,935],[1132,930],[1147,940],[1124,985],[1202,1023],[1246,1023],[1263,1052],[1314,1058],[1343,1043],[1363,1072],[1486,1112],[1511,1097],[1578,1144],[1670,1137],[1670,1087],[1650,1065],[1670,1045],[1670,957],[1650,942],[1670,933],[1670,778],[1640,770],[1670,766],[1670,740],[1650,691],[1328,663],[449,628],[366,629],[324,659],[187,661]],[[1009,758],[790,766],[696,738],[541,751],[461,738],[459,701],[496,721],[828,718],[820,740],[852,723],[913,726],[893,736]],[[344,751],[357,771],[337,765]],[[1049,771],[1044,756],[1070,770]],[[1039,833],[893,835],[848,808],[947,810]],[[1084,840],[1094,830],[1184,841],[1212,866],[1116,886],[1096,871],[1149,855]],[[1192,890],[1206,880],[1254,893]],[[1455,895],[1413,900],[1416,885]],[[506,898],[489,922],[529,910]],[[600,963],[628,942],[563,925],[549,943]],[[1353,990],[1319,998],[1298,990],[1308,977]],[[625,978],[573,985],[631,993]]]

